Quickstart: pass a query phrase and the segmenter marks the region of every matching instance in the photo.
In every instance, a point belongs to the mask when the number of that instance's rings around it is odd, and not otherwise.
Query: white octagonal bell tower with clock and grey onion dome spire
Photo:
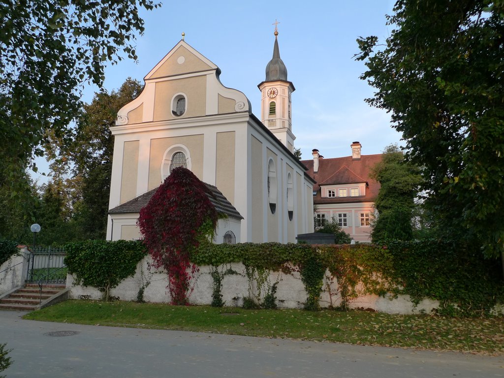
[[[287,80],[287,68],[278,48],[278,21],[275,21],[273,57],[266,66],[266,80],[258,85],[261,91],[261,121],[290,152],[296,137],[292,134],[291,94],[294,85]]]

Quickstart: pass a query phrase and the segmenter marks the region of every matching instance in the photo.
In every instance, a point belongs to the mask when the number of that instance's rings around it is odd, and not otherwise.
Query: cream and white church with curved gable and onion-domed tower
[[[215,242],[296,242],[313,231],[314,180],[293,155],[294,85],[273,57],[259,84],[261,115],[226,88],[219,68],[183,37],[117,113],[107,239],[135,239],[140,209],[174,167],[190,169],[220,198],[228,218]],[[229,237],[231,235],[233,237]]]

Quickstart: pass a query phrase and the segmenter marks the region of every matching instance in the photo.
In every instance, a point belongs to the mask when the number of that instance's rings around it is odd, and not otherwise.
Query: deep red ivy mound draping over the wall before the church
[[[213,236],[218,214],[207,186],[193,172],[177,167],[140,210],[138,225],[156,268],[168,272],[174,304],[186,304],[196,266],[191,251]]]

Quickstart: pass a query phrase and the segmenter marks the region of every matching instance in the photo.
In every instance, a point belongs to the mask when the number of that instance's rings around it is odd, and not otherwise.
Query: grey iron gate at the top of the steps
[[[67,267],[62,247],[35,247],[30,255],[27,282],[64,284],[67,282]]]

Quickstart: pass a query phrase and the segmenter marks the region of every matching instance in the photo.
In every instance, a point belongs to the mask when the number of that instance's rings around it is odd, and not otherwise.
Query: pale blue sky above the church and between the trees
[[[183,32],[185,42],[221,69],[222,84],[243,92],[258,116],[257,85],[265,80],[278,20],[280,56],[295,87],[294,147],[301,149],[302,159],[311,159],[314,148],[325,158],[351,155],[354,141],[362,144],[362,154],[379,154],[392,143],[401,144],[401,135],[391,128],[389,114],[364,102],[373,88],[359,79],[365,66],[354,54],[359,52],[357,37],[389,36],[385,15],[392,14],[394,3],[165,0],[161,8],[141,12],[145,32],[137,37],[138,62],[125,59],[109,65],[104,87],[118,89],[128,77],[143,83]],[[83,100],[91,102],[97,90],[86,86]]]

